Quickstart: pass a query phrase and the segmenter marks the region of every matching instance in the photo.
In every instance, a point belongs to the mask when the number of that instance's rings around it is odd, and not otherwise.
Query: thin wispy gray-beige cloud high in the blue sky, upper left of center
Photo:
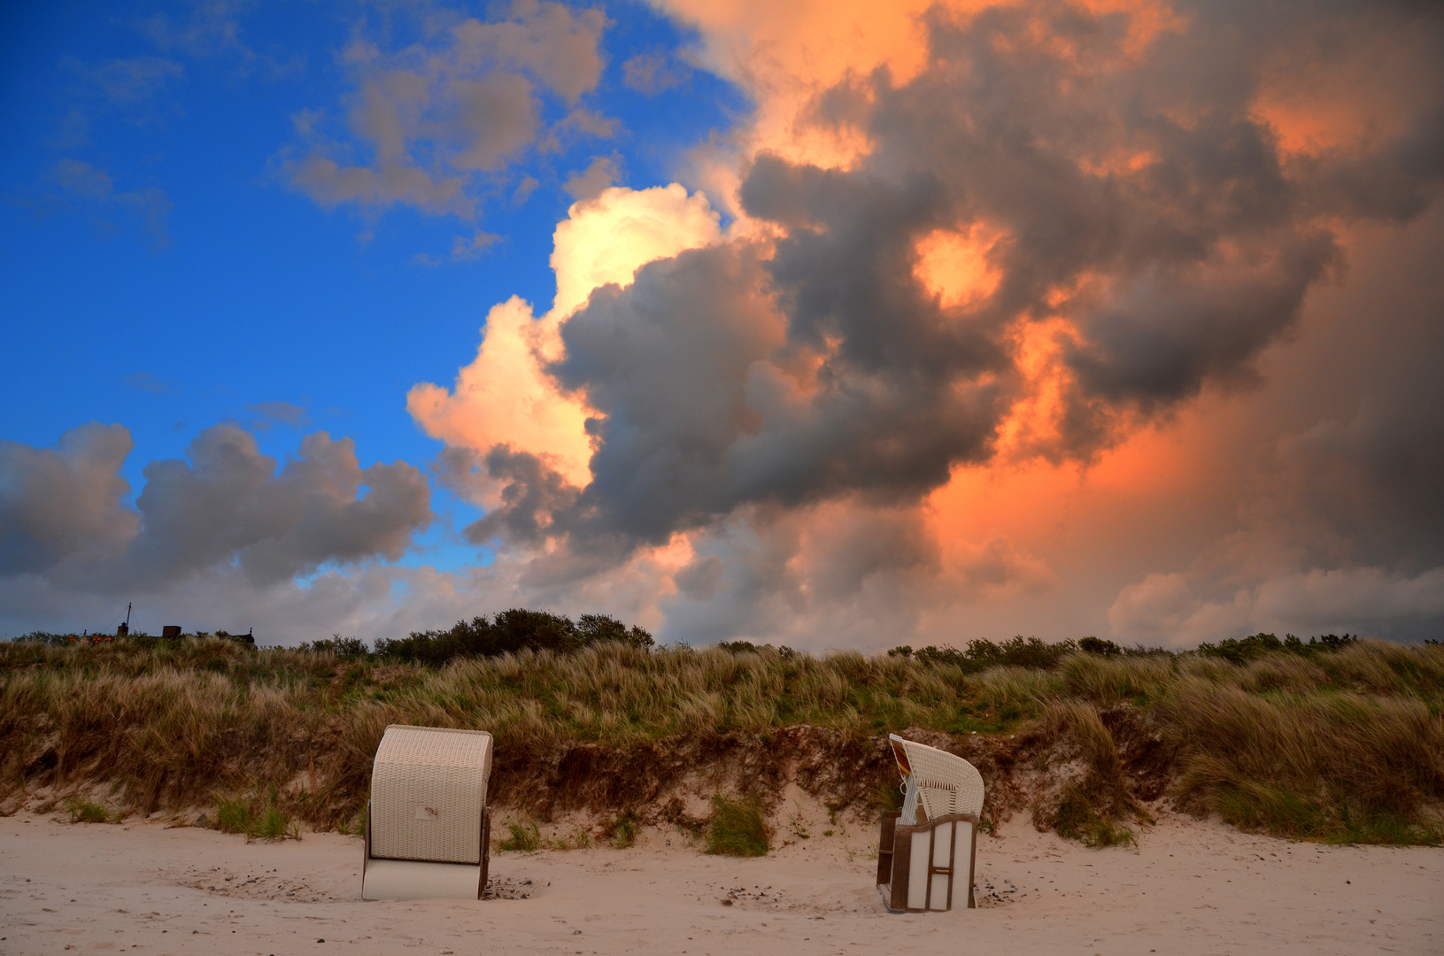
[[[578,105],[601,77],[601,10],[521,0],[505,16],[464,19],[383,53],[358,36],[344,62],[355,77],[349,137],[296,117],[300,143],[282,153],[286,179],[326,207],[433,215],[477,214],[478,188],[536,146],[543,131],[609,136],[614,126]],[[549,130],[544,95],[569,113]]]

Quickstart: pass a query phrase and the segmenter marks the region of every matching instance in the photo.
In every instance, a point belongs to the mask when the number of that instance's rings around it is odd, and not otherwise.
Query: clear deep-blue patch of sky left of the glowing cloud
[[[582,103],[617,121],[611,136],[526,150],[478,189],[474,218],[328,208],[282,168],[295,118],[310,111],[347,140],[348,43],[401,49],[442,10],[209,10],[9,4],[0,29],[0,435],[48,446],[90,420],[123,423],[136,442],[123,471],[131,494],[147,462],[179,458],[227,420],[277,458],[322,429],[354,438],[362,465],[432,459],[440,442],[416,427],[406,391],[449,384],[495,302],[550,300],[566,179],[601,156],[618,185],[671,182],[690,149],[748,110],[741,91],[679,59],[693,38],[673,22],[609,4],[605,69]],[[661,65],[663,88],[625,85],[638,56]],[[544,117],[563,107],[547,98]],[[364,143],[345,144],[364,156]],[[539,185],[516,201],[527,178]],[[452,258],[478,230],[495,238]],[[478,549],[456,543],[448,518],[477,510],[435,494],[442,521],[406,560],[474,562]]]

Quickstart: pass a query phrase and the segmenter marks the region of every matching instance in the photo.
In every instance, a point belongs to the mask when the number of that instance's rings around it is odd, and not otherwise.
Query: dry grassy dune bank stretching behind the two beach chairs
[[[1437,842],[1441,712],[1444,648],[1378,641],[973,673],[771,648],[604,644],[429,669],[218,638],[3,643],[0,812],[36,788],[108,787],[144,813],[270,793],[257,814],[349,829],[386,726],[423,723],[492,731],[494,793],[539,819],[585,807],[697,826],[667,800],[706,768],[731,768],[722,788],[762,810],[787,780],[866,807],[895,774],[878,735],[908,729],[979,765],[991,820],[1031,809],[1084,842],[1128,839],[1158,799],[1300,838]]]

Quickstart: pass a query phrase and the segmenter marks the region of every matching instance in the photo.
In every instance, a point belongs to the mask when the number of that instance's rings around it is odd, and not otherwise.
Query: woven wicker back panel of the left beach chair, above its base
[[[371,856],[481,862],[491,734],[386,728],[371,768]]]

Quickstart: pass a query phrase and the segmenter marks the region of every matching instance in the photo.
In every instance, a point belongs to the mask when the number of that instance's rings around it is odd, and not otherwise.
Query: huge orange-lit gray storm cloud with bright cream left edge
[[[575,207],[553,309],[498,306],[458,387],[412,396],[485,455],[452,465],[490,475],[468,537],[518,582],[801,644],[1028,621],[1187,643],[1313,620],[1328,582],[1359,608],[1328,620],[1434,614],[1437,547],[1344,530],[1344,498],[1398,481],[1367,462],[1393,419],[1268,390],[1359,231],[1415,221],[1441,178],[1437,92],[1291,68],[1367,16],[658,6],[757,101],[695,157],[721,192]]]

